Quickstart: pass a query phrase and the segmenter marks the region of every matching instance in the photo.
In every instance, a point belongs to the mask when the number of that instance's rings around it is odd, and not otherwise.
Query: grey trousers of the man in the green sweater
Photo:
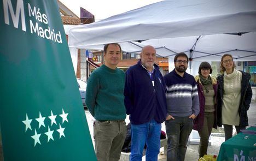
[[[125,121],[95,121],[95,152],[99,161],[118,161],[126,137]]]

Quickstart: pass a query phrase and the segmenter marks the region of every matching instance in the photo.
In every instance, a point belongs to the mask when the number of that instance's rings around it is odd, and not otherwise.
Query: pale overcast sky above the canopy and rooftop
[[[83,7],[94,15],[95,21],[160,1],[162,0],[60,0],[78,17],[80,7]]]

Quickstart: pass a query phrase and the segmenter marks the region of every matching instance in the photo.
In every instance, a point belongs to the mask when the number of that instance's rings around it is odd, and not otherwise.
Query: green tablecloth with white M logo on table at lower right
[[[250,127],[247,130],[256,131],[256,127]],[[254,144],[256,144],[256,135],[239,133],[223,142],[220,146],[217,161],[254,161],[256,160],[256,146]]]

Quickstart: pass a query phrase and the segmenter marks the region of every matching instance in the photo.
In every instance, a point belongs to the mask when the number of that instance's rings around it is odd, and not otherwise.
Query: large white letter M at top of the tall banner
[[[11,0],[3,0],[3,8],[4,8],[4,22],[7,25],[10,25],[10,22],[9,22],[9,11],[10,11],[11,20],[13,20],[13,25],[14,25],[15,28],[18,28],[19,19],[20,19],[20,15],[21,15],[22,30],[26,31],[23,1],[22,0],[17,0],[16,13],[14,13],[13,5],[11,4]]]

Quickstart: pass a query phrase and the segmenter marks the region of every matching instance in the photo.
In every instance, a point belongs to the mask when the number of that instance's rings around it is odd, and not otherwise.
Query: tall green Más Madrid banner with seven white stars
[[[56,0],[1,0],[0,33],[4,160],[96,160]]]

